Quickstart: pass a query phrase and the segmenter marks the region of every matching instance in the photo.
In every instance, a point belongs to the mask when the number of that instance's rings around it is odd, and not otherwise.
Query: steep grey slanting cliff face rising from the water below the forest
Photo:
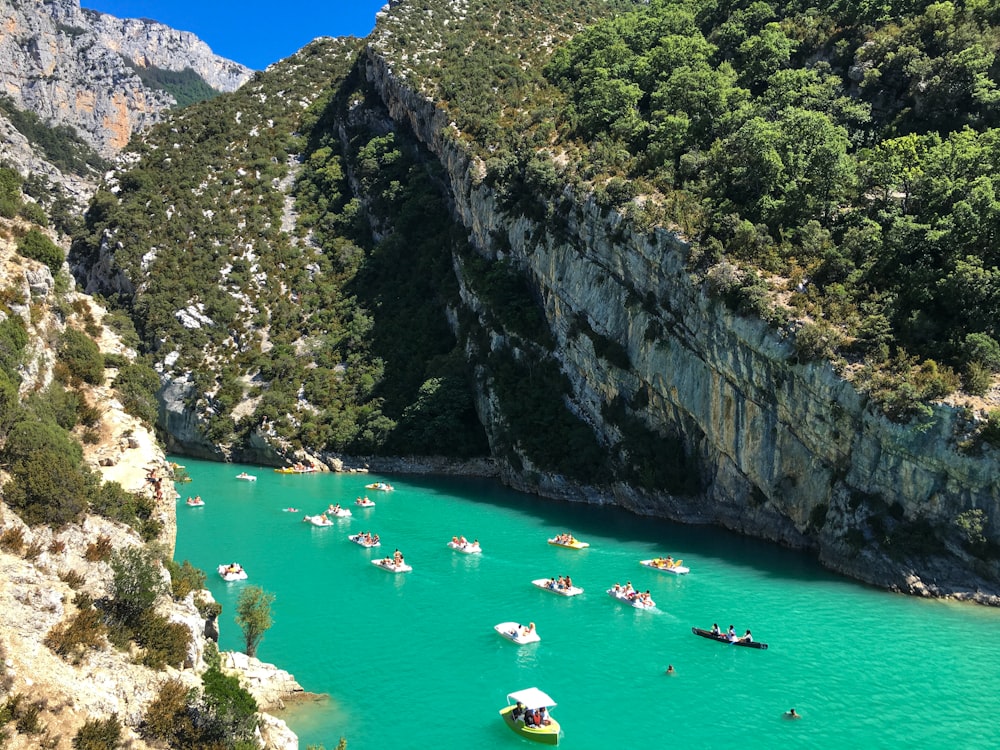
[[[504,214],[480,182],[482,165],[457,146],[445,113],[400,80],[377,45],[369,47],[366,75],[392,118],[447,169],[455,212],[474,246],[491,257],[505,254],[534,286],[573,384],[574,408],[598,438],[610,445],[616,437],[602,406],[617,397],[638,404],[634,416],[648,428],[680,436],[698,466],[701,491],[579,487],[507,467],[510,484],[814,548],[828,566],[883,586],[998,601],[995,584],[980,579],[960,549],[939,550],[937,559],[948,562],[920,567],[887,554],[872,531],[887,509],[897,523],[942,528],[981,509],[993,523],[986,535],[1000,540],[1000,462],[995,453],[956,450],[955,410],[936,407],[932,424],[919,430],[897,425],[831,366],[795,364],[790,341],[734,314],[689,275],[687,246],[672,233],[638,232],[586,198],[574,202],[558,231]],[[463,298],[476,309],[470,289]],[[575,332],[580,316],[624,346],[628,369],[599,357],[591,339]],[[495,430],[488,392],[480,411]],[[981,572],[995,578],[996,571]]]

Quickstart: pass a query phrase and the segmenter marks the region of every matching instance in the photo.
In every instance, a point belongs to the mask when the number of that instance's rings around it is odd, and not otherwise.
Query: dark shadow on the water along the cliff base
[[[787,549],[720,527],[640,516],[616,506],[553,500],[518,492],[487,479],[408,475],[405,482],[431,493],[448,487],[476,502],[534,516],[551,526],[553,534],[571,531],[585,541],[600,537],[611,542],[645,543],[651,555],[695,555],[731,565],[745,565],[752,560],[758,573],[777,578],[851,581],[865,585],[824,568],[812,552]]]

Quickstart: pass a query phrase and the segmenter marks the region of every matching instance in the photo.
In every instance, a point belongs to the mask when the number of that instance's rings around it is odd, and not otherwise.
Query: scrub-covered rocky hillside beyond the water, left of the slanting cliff
[[[481,454],[435,167],[364,122],[342,141],[356,57],[356,40],[314,43],[154,128],[71,257],[89,266],[111,238],[136,287],[112,302],[189,375],[214,443]]]

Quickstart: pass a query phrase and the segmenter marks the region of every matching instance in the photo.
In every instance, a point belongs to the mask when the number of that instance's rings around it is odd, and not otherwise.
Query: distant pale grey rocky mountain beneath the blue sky
[[[212,54],[194,34],[80,8],[79,0],[0,0],[0,93],[43,121],[72,125],[104,156],[176,104],[135,68],[191,68],[233,91],[248,68]]]

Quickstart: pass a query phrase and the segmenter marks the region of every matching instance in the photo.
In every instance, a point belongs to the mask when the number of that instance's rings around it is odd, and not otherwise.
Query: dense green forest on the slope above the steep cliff
[[[996,3],[467,5],[444,37],[401,8],[383,45],[422,50],[399,67],[491,184],[536,215],[571,184],[676,227],[710,292],[797,321],[799,359],[839,362],[890,416],[990,387]]]

